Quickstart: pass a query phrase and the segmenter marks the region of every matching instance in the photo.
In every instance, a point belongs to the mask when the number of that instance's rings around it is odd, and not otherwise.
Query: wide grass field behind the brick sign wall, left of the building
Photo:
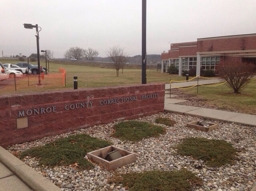
[[[0,62],[15,64],[17,59],[0,59]],[[27,62],[27,61],[24,61]],[[37,65],[37,62],[30,62],[33,65]],[[45,67],[45,62],[41,60],[41,65]],[[128,85],[128,84],[140,84],[141,83],[141,70],[140,69],[124,69],[124,73],[119,71],[119,76],[116,76],[115,69],[107,69],[100,67],[81,66],[79,63],[75,65],[57,64],[54,60],[50,62],[50,74],[58,73],[59,68],[66,69],[66,87],[73,87],[73,77],[78,77],[79,87],[103,87],[103,86],[116,86],[116,85]],[[178,75],[169,75],[167,73],[161,73],[155,69],[147,70],[147,83],[159,82],[169,83],[170,78],[172,80],[185,80],[185,77]]]

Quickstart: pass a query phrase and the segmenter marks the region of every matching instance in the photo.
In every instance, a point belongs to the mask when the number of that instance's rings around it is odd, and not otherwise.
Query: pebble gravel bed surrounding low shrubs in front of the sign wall
[[[219,128],[210,132],[201,132],[187,128],[188,122],[198,120],[192,116],[184,116],[172,113],[159,113],[142,117],[136,120],[155,124],[157,117],[170,117],[177,123],[174,126],[166,126],[166,134],[160,137],[152,137],[143,141],[130,143],[110,137],[113,125],[93,126],[79,131],[68,132],[57,136],[44,137],[43,139],[16,144],[7,149],[13,154],[24,151],[34,146],[44,145],[67,137],[72,134],[86,133],[92,137],[109,140],[113,145],[128,151],[137,153],[134,163],[123,166],[115,171],[107,171],[95,164],[94,169],[80,171],[72,166],[55,166],[54,168],[38,165],[38,159],[26,157],[23,162],[41,173],[55,185],[64,191],[124,191],[123,185],[108,183],[108,179],[115,173],[141,172],[147,170],[171,171],[173,169],[187,168],[203,179],[203,186],[193,187],[196,191],[250,191],[256,185],[256,128],[233,123],[209,121],[217,123]],[[158,124],[159,125],[159,124]],[[233,165],[225,165],[220,168],[210,168],[202,160],[192,157],[183,157],[176,154],[174,146],[181,143],[184,137],[205,137],[207,139],[224,139],[240,150],[238,160]]]

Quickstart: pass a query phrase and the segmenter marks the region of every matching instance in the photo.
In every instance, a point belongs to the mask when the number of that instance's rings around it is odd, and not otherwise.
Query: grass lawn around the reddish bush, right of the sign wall
[[[207,99],[204,101],[207,105],[254,115],[256,113],[256,80],[251,80],[240,94],[235,94],[226,84],[216,87],[199,86],[198,94],[196,87],[182,91]]]

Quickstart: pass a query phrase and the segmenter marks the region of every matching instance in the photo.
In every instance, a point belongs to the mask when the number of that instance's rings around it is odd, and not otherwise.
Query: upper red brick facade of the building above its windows
[[[196,54],[240,57],[239,53],[241,52],[245,53],[242,56],[250,57],[251,55],[256,55],[255,50],[256,34],[210,37],[197,39],[197,42],[173,43],[170,46],[168,54],[162,53],[161,60],[177,59],[178,57],[195,57]],[[211,52],[213,53],[211,54]],[[233,55],[225,55],[228,53]]]

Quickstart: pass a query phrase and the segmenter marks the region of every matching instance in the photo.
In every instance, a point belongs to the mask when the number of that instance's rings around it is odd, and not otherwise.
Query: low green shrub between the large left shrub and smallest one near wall
[[[140,141],[146,137],[158,137],[165,133],[165,128],[148,122],[125,121],[114,126],[113,137],[132,142]]]

